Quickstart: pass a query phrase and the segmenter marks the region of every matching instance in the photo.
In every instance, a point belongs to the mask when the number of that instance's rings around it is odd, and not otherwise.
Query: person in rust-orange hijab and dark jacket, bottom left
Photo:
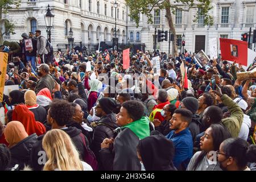
[[[9,167],[18,164],[19,169],[23,169],[24,165],[28,165],[30,162],[30,151],[38,136],[35,133],[28,136],[24,126],[19,121],[8,123],[4,132],[11,152]]]

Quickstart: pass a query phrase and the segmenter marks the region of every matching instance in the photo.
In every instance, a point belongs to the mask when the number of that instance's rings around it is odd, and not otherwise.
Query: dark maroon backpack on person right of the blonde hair
[[[88,144],[86,144],[85,136],[82,133],[80,133],[79,135],[82,139],[82,143],[85,146],[83,160],[84,160],[84,162],[88,163],[93,168],[93,171],[95,171],[98,168],[98,162],[96,160],[96,156],[94,155],[93,151],[90,150],[90,148],[88,147]]]

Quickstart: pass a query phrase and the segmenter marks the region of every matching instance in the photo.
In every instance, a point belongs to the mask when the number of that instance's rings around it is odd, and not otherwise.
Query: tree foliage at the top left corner
[[[20,0],[0,0],[0,44],[3,43],[3,35],[14,34],[15,24],[13,20],[6,19],[5,15],[13,7],[18,8]],[[3,31],[2,31],[3,30]]]

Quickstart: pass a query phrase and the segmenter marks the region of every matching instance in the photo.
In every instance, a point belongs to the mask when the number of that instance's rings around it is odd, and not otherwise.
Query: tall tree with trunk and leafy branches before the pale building
[[[147,16],[147,23],[153,23],[152,11],[155,9],[166,10],[166,18],[172,34],[174,34],[174,55],[177,56],[176,46],[176,31],[172,14],[176,10],[189,11],[191,9],[200,9],[200,14],[197,11],[193,22],[197,22],[200,15],[204,15],[204,24],[212,25],[213,18],[209,14],[211,6],[210,0],[126,0],[127,6],[130,9],[129,16],[134,19],[135,23],[139,24],[139,14]]]

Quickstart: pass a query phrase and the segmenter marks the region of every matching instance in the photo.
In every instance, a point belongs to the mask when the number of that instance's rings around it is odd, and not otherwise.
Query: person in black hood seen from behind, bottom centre
[[[172,163],[174,143],[164,135],[151,135],[139,141],[138,150],[146,171],[176,171]]]

